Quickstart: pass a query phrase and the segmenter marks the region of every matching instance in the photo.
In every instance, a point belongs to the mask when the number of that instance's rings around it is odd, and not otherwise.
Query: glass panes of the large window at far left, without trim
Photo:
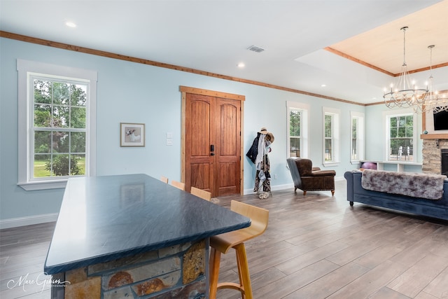
[[[87,84],[32,76],[33,179],[85,174]]]

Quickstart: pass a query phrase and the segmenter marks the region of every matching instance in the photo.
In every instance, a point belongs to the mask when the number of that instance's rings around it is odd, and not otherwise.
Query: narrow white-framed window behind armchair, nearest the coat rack
[[[308,157],[308,111],[309,105],[286,102],[287,110],[287,157]]]

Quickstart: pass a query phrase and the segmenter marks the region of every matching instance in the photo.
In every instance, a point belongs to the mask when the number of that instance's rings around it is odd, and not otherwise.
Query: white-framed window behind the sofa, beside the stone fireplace
[[[415,162],[416,114],[405,111],[386,113],[386,160]]]

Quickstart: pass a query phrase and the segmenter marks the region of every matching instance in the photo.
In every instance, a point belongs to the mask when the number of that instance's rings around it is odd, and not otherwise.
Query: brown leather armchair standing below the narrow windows
[[[294,192],[300,189],[306,195],[307,191],[331,190],[331,195],[335,195],[334,170],[313,167],[311,160],[304,158],[288,158],[286,161],[293,176]]]

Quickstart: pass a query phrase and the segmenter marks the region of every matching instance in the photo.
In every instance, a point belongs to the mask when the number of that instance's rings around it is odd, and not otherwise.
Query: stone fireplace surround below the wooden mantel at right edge
[[[442,151],[445,152],[444,155],[448,152],[448,139],[423,139],[423,173],[442,174]],[[444,158],[447,166],[448,157]],[[444,171],[447,172],[447,169]]]

